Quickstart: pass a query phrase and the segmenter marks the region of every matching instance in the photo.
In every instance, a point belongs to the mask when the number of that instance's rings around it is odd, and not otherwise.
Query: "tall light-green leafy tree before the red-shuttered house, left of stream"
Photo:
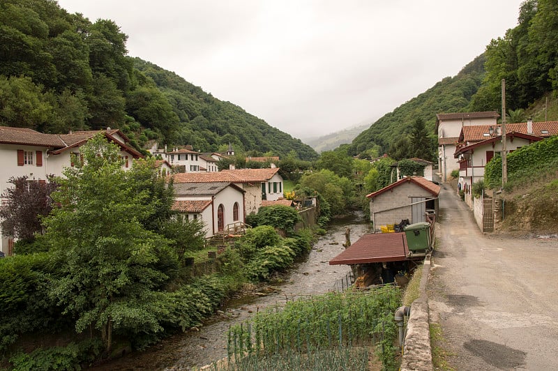
[[[157,248],[167,245],[139,220],[153,212],[148,192],[128,182],[116,144],[102,135],[80,148],[83,165],[66,168],[52,194],[59,208],[45,219],[47,239],[63,262],[50,294],[75,329],[101,331],[107,353],[113,332],[156,333],[158,295],[167,275],[155,268]]]

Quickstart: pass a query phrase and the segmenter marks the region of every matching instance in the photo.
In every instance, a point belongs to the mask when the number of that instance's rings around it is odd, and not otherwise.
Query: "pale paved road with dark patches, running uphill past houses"
[[[558,370],[558,239],[481,234],[449,185],[429,281],[456,370]]]

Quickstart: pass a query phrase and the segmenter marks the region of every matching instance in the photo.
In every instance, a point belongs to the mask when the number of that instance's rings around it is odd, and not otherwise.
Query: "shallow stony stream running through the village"
[[[229,326],[250,319],[258,310],[283,305],[298,296],[322,294],[341,287],[349,266],[329,265],[329,260],[345,250],[345,227],[351,228],[354,243],[371,233],[370,222],[362,213],[347,215],[329,225],[328,232],[313,245],[310,253],[297,262],[280,285],[270,286],[266,296],[236,298],[227,303],[226,315],[213,317],[199,331],[166,338],[146,351],[98,365],[92,370],[190,370],[227,356]]]

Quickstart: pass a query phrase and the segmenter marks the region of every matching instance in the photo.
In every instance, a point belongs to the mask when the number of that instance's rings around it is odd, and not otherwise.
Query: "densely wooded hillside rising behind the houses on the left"
[[[0,2],[0,125],[41,132],[120,128],[137,149],[192,144],[303,160],[310,146],[186,80],[127,56],[128,36],[55,1]]]

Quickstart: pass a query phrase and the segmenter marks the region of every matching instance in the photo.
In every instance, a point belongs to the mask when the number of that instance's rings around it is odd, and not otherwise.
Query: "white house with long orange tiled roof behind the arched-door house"
[[[276,201],[283,196],[283,180],[278,168],[232,169],[211,173],[174,174],[177,183],[229,182],[246,191],[244,211],[246,215],[257,213],[262,200]]]

